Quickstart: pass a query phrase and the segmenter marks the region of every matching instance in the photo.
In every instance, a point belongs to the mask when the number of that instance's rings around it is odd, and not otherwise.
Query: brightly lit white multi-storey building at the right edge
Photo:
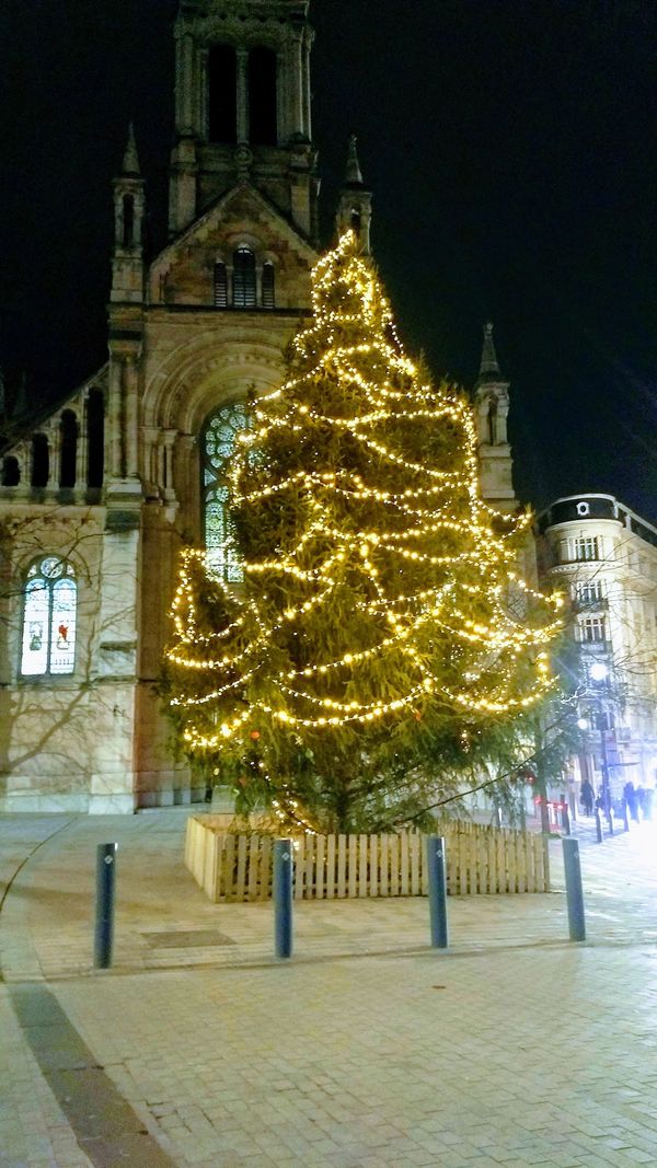
[[[607,494],[558,499],[539,517],[539,570],[563,590],[579,647],[586,749],[574,760],[618,802],[657,769],[657,528]]]

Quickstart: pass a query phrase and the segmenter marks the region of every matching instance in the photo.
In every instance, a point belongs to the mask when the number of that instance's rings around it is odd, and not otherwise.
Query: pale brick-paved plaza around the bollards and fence
[[[555,891],[213,905],[181,809],[0,818],[1,1168],[657,1163],[657,832],[581,837]],[[115,965],[94,971],[116,840]]]

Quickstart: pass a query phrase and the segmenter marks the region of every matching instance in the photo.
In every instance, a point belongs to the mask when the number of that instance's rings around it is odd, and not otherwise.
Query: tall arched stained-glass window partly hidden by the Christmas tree
[[[242,402],[222,405],[203,433],[203,536],[208,566],[228,584],[243,579],[228,508],[228,470],[240,431],[248,427]]]

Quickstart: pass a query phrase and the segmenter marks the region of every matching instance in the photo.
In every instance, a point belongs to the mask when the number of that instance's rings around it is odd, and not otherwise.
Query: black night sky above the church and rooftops
[[[4,0],[0,345],[35,403],[105,360],[136,123],[164,243],[175,0]],[[314,0],[328,238],[345,141],[407,348],[471,385],[496,325],[520,496],[657,520],[657,2]]]

